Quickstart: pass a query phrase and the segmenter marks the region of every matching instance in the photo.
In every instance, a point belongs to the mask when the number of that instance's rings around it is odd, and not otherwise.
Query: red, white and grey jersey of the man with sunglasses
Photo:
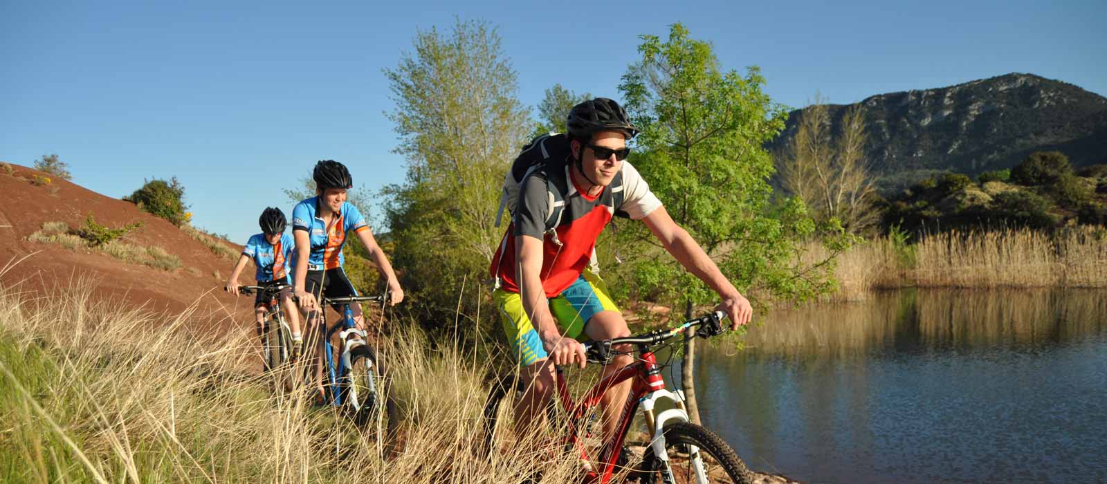
[[[631,219],[639,220],[661,207],[661,200],[650,191],[649,185],[629,162],[622,164],[622,183],[615,188],[606,187],[597,197],[589,197],[581,191],[584,187],[577,187],[572,182],[569,166],[568,162],[552,164],[546,169],[531,172],[523,180],[511,224],[493,256],[490,267],[492,275],[499,278],[503,290],[519,292],[515,269],[517,236],[542,240],[542,288],[546,297],[555,297],[569,287],[588,266],[596,240],[615,212],[623,212]],[[561,212],[560,223],[552,231],[546,225],[550,203],[555,202],[554,194],[549,192],[550,187],[565,187],[560,197],[565,200],[565,210]],[[620,189],[623,191],[622,197],[615,197],[613,191]],[[615,207],[619,198],[622,202]]]

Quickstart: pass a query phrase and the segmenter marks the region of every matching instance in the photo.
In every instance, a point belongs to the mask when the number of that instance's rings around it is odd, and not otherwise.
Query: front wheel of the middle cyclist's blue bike
[[[362,345],[350,350],[350,368],[345,378],[340,378],[340,385],[348,386],[345,408],[354,423],[366,427],[382,418],[385,419],[386,432],[392,434],[399,423],[397,409],[395,399],[386,391],[383,376],[384,368],[376,358],[376,353]]]

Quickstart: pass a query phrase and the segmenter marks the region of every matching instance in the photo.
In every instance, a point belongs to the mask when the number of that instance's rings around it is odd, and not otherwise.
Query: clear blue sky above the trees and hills
[[[800,107],[1030,72],[1107,94],[1107,2],[55,2],[0,0],[0,160],[56,152],[111,197],[177,176],[196,224],[242,242],[318,159],[401,182],[382,69],[417,29],[498,27],[536,105],[560,83],[618,97],[639,34],[683,22]]]

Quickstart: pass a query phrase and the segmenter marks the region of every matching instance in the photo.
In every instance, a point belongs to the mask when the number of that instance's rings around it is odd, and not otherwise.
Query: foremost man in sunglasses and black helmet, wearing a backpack
[[[681,265],[720,295],[716,308],[730,315],[732,328],[752,316],[749,302],[624,161],[630,152],[627,140],[635,135],[638,128],[614,101],[599,97],[580,103],[568,116],[569,156],[531,170],[521,181],[511,224],[490,267],[498,282],[493,298],[523,367],[521,381],[529,383],[516,409],[517,431],[532,428],[538,410],[554,394],[556,365],[584,366],[584,347],[578,337],[630,336],[603,281],[589,270],[596,241],[617,212],[642,220]],[[617,179],[618,187],[612,189]],[[558,206],[559,220],[551,223],[548,215],[555,201],[563,202],[563,208]],[[619,355],[603,367],[603,376],[631,362],[630,356]],[[630,383],[624,381],[604,393],[607,435],[614,431]]]

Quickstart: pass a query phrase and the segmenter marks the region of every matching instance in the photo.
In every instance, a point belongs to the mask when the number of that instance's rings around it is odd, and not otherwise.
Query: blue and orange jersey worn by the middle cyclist
[[[296,208],[292,209],[292,231],[308,232],[311,241],[308,271],[341,267],[342,263],[345,262],[345,257],[342,256],[345,233],[351,230],[354,232],[368,230],[369,224],[365,223],[365,218],[361,215],[356,207],[349,202],[342,202],[338,220],[331,227],[327,227],[323,219],[315,217],[318,203],[319,197],[312,197],[297,203]]]

